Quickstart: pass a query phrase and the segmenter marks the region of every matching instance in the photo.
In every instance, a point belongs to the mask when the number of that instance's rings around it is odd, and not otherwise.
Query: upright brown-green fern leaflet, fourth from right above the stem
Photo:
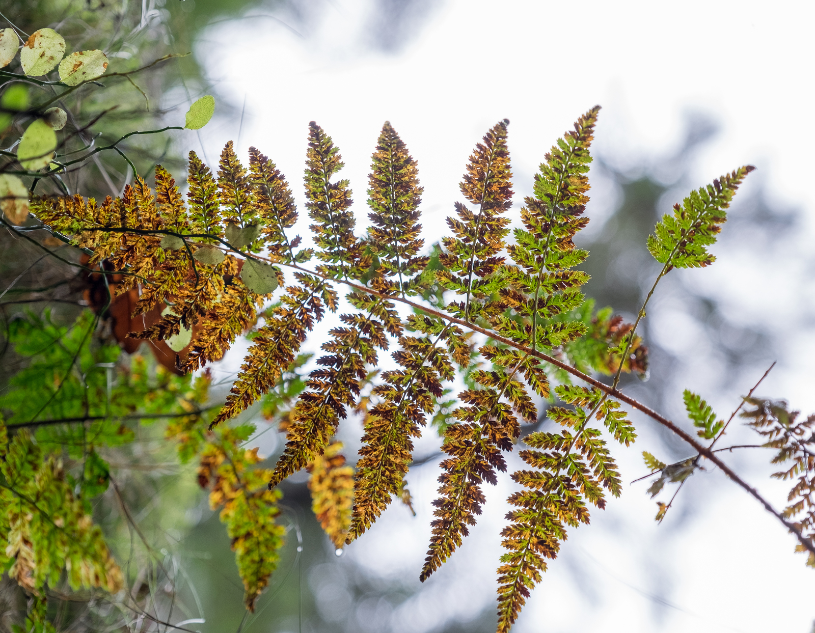
[[[417,174],[416,160],[407,153],[390,121],[385,121],[368,176],[368,206],[372,209],[368,218],[373,222],[368,244],[381,268],[375,279],[395,277],[398,281],[395,287],[390,280],[374,284],[380,292],[393,287],[403,296],[415,295],[419,274],[430,261],[430,257],[417,254],[425,243],[419,238],[418,207],[423,189]]]

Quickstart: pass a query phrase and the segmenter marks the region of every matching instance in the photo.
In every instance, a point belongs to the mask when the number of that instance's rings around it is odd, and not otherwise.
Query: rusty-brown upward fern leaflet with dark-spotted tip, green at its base
[[[445,309],[469,321],[494,319],[504,311],[489,297],[502,286],[501,275],[496,273],[504,263],[499,253],[509,233],[509,219],[502,214],[512,205],[507,125],[506,119],[494,125],[469,157],[460,189],[477,209],[456,202],[458,219],[447,218],[455,237],[443,238],[444,249],[438,255],[442,265],[436,272],[439,283],[465,296],[464,302],[450,303]]]

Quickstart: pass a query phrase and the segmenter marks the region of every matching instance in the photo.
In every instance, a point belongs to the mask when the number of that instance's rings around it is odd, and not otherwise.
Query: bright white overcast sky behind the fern
[[[341,148],[347,165],[342,175],[354,187],[358,218],[367,211],[364,191],[377,134],[383,121],[393,123],[419,163],[425,239],[431,242],[459,198],[457,183],[474,143],[504,117],[511,121],[515,188],[526,195],[544,152],[595,103],[603,106],[597,151],[637,160],[670,153],[681,142],[686,114],[704,112],[721,132],[697,156],[693,182],[702,185],[738,165],[756,165],[760,176],[751,178],[761,178],[775,200],[806,218],[799,241],[791,244],[791,261],[796,253],[811,261],[813,7],[813,2],[710,0],[450,0],[430,11],[398,52],[385,53],[371,46],[377,35],[371,2],[315,0],[306,11],[311,18],[294,25],[297,34],[268,17],[286,21],[291,14],[255,8],[247,12],[250,19],[209,29],[196,55],[209,68],[218,99],[239,113],[245,103],[239,152],[245,156],[251,144],[275,160],[301,209],[311,120]],[[206,135],[209,160],[223,142],[237,140],[239,127],[240,116],[214,121]],[[743,195],[750,191],[755,189],[745,187]],[[307,222],[302,224],[307,233]],[[782,273],[778,270],[779,278]],[[813,270],[799,273],[811,279]],[[721,276],[709,279],[728,283]],[[784,286],[766,271],[762,279],[792,294],[802,287]],[[733,283],[748,287],[750,279]],[[800,359],[768,385],[776,395],[815,410],[815,340],[812,316],[804,314],[815,304],[810,298],[788,305],[800,323],[808,322],[809,332],[800,333]],[[638,455],[645,447],[623,457],[624,475],[641,471]],[[425,500],[432,498],[435,476],[414,477],[412,485],[426,490]],[[755,477],[760,481],[758,472]],[[494,505],[454,561],[458,566],[452,569],[465,577],[465,584],[455,584],[455,591],[463,591],[460,600],[491,600],[501,499],[508,492],[506,485],[490,491]],[[815,572],[804,569],[803,556],[791,553],[793,543],[782,527],[734,487],[707,492],[698,486],[696,494],[709,495],[705,516],[685,523],[675,517],[673,528],[657,528],[653,502],[642,489],[627,487],[609,511],[594,513],[597,525],[570,539],[570,556],[551,565],[516,631],[651,633],[693,627],[808,633],[815,618]],[[416,521],[426,527],[430,510],[419,512]],[[369,556],[372,569],[390,565],[394,573],[416,573],[427,530],[405,524],[403,514],[389,511],[384,518],[390,527],[379,537],[366,535],[368,545],[360,543],[350,556],[363,562]],[[390,540],[395,534],[407,543],[402,552]],[[440,593],[441,584],[434,591],[442,606],[460,602]],[[648,593],[667,596],[671,604],[659,606]],[[416,600],[416,608],[430,609],[434,598],[422,592]],[[571,621],[553,615],[566,604],[573,609]],[[398,617],[410,614],[394,614]],[[422,626],[404,630],[430,630]]]

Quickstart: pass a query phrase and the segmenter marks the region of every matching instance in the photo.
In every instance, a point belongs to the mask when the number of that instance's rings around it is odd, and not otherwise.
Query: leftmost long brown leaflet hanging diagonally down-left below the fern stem
[[[293,363],[306,333],[323,318],[325,306],[335,306],[336,293],[323,280],[303,273],[295,277],[301,285],[286,288],[274,317],[258,330],[227,402],[210,429],[235,417],[274,387],[280,372]]]

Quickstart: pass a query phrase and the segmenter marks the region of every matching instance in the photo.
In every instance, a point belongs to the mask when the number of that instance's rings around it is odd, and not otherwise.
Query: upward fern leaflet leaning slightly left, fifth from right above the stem
[[[328,134],[314,121],[309,123],[306,152],[306,209],[315,221],[311,231],[319,247],[317,266],[322,275],[359,279],[370,266],[363,259],[362,244],[354,235],[354,213],[350,211],[351,191],[347,180],[331,182],[345,163]]]

